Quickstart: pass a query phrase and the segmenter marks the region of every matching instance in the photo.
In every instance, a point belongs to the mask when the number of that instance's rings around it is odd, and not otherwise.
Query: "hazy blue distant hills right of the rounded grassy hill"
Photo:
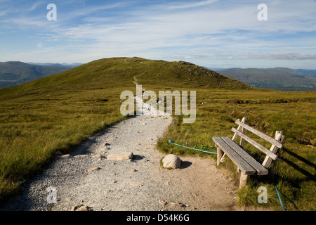
[[[217,70],[250,86],[279,91],[316,91],[316,70],[292,70],[289,68],[230,68]]]

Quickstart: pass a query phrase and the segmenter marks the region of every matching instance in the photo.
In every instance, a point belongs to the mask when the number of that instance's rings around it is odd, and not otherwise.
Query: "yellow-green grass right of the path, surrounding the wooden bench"
[[[268,204],[274,210],[282,210],[276,195],[279,189],[286,210],[316,210],[315,205],[315,91],[229,91],[197,89],[197,120],[193,124],[183,124],[181,117],[175,117],[168,134],[159,141],[158,148],[164,153],[177,155],[198,155],[216,159],[216,155],[200,153],[171,145],[168,140],[191,148],[216,152],[213,136],[232,138],[235,120],[248,117],[248,123],[269,136],[281,130],[285,136],[284,148],[279,150],[274,179],[271,176],[251,176],[248,186],[238,191],[239,205],[263,206],[257,203],[259,186],[268,188]],[[280,101],[282,99],[282,101]],[[203,105],[201,103],[204,103]],[[250,134],[249,134],[250,135]],[[255,141],[266,148],[270,144]],[[308,146],[310,145],[310,146]],[[245,149],[256,160],[263,162],[265,155],[246,144]],[[238,183],[235,165],[226,158],[219,169],[230,169]]]

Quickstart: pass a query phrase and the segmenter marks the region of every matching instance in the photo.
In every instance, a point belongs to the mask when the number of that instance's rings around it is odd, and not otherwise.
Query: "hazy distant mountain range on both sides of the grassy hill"
[[[0,87],[24,84],[34,79],[65,72],[79,65],[81,63],[0,63]],[[212,68],[211,70],[257,88],[316,91],[316,70],[289,68]]]

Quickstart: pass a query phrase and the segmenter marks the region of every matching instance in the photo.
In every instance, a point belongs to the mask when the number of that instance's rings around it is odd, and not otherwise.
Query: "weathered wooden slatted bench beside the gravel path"
[[[239,126],[237,129],[232,128],[232,131],[235,133],[232,139],[227,136],[221,138],[213,137],[213,141],[215,142],[217,148],[217,165],[219,165],[220,162],[223,162],[225,155],[227,155],[230,160],[237,165],[237,172],[241,171],[239,188],[246,186],[246,181],[249,175],[256,174],[261,176],[269,173],[268,168],[270,167],[272,160],[277,159],[277,150],[282,148],[282,141],[284,139],[282,131],[276,131],[275,139],[273,139],[272,137],[261,133],[261,131],[250,127],[246,124],[246,121],[247,117],[244,117],[242,118],[242,121],[237,120],[235,122]],[[270,142],[272,144],[270,150],[249,138],[249,136],[246,136],[246,130],[251,131],[251,133],[261,137],[261,139]],[[239,145],[236,143],[238,137],[240,137]],[[252,158],[251,155],[246,153],[246,151],[242,148],[244,146],[244,140],[248,141],[251,145],[265,153],[266,157],[262,164]]]

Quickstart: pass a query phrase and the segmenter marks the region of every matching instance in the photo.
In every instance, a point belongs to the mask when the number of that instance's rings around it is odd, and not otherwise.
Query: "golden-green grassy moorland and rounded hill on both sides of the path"
[[[252,177],[239,191],[240,205],[258,205],[256,189],[268,188],[268,206],[280,210],[277,185],[287,210],[315,210],[316,92],[252,89],[235,79],[186,62],[143,58],[96,60],[58,75],[0,89],[0,200],[14,193],[28,176],[40,172],[57,150],[67,153],[81,141],[121,118],[121,91],[138,84],[147,90],[197,91],[197,120],[183,124],[180,117],[158,143],[164,153],[214,158],[192,148],[211,150],[212,136],[232,136],[236,119],[274,136],[282,130],[275,179]],[[157,92],[156,92],[157,93]],[[246,146],[249,148],[249,146]],[[262,160],[258,151],[251,155]],[[230,168],[230,160],[219,169]],[[261,205],[262,206],[262,205]]]

